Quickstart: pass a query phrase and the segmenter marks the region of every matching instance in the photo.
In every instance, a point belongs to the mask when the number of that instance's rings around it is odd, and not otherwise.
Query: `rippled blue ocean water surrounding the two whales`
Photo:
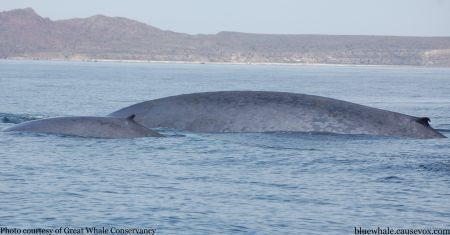
[[[450,136],[450,69],[0,61],[0,129],[216,90],[321,95],[431,118]],[[0,226],[156,234],[450,228],[450,139],[308,133],[90,139],[0,132]]]

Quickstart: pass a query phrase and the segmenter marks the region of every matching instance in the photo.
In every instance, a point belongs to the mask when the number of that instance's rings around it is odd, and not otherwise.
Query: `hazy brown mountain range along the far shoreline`
[[[450,37],[189,35],[122,17],[52,21],[26,8],[0,12],[0,58],[450,67]]]

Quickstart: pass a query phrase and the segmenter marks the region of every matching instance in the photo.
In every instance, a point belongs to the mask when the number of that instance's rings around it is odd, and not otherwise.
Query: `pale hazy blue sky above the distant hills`
[[[450,36],[450,0],[0,0],[51,19],[123,16],[184,32]]]

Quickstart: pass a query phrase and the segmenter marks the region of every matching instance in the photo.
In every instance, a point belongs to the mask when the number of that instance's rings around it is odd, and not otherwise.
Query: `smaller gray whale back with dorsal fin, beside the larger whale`
[[[59,117],[20,123],[4,131],[62,134],[92,138],[138,138],[161,136],[134,120],[113,117]]]

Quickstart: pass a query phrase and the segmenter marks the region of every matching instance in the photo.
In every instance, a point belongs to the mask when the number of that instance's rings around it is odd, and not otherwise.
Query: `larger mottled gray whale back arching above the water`
[[[148,127],[196,132],[328,132],[444,138],[429,119],[320,96],[266,91],[221,91],[171,96],[120,109]]]

